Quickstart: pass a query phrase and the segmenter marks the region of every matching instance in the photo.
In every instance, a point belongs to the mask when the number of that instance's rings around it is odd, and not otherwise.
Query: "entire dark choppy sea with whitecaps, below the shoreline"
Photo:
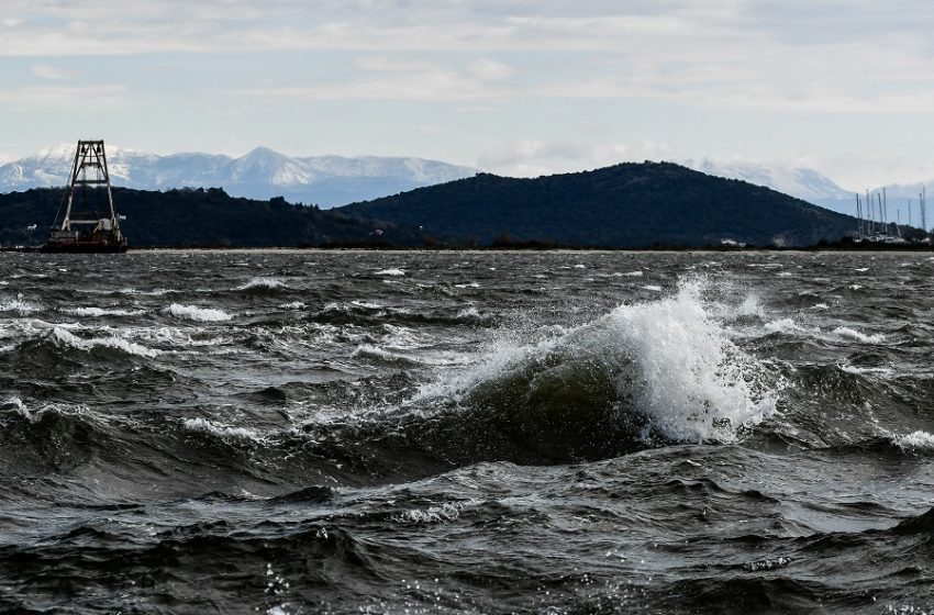
[[[934,259],[0,255],[0,610],[934,612]]]

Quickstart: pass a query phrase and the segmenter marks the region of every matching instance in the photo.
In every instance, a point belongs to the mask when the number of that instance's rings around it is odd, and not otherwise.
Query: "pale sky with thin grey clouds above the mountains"
[[[930,0],[3,0],[0,160],[418,156],[934,179]]]

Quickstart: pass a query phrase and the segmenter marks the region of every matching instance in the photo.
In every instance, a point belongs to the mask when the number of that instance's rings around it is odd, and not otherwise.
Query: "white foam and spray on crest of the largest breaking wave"
[[[657,301],[621,305],[569,331],[555,327],[555,337],[538,344],[500,340],[486,362],[447,387],[425,387],[422,395],[463,396],[504,373],[560,357],[588,371],[615,373],[620,399],[632,399],[669,439],[732,440],[741,425],[772,414],[776,396],[764,368],[711,316],[724,308],[709,309],[703,288],[701,280],[682,282],[675,294]]]

